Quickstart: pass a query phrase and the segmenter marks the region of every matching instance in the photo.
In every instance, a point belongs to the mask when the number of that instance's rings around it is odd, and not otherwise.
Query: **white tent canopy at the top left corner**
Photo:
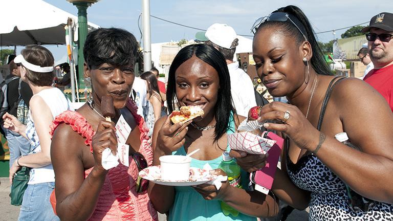
[[[42,0],[0,2],[0,46],[64,45],[68,18],[78,17]],[[17,14],[15,14],[17,12]],[[88,23],[89,29],[99,26]]]

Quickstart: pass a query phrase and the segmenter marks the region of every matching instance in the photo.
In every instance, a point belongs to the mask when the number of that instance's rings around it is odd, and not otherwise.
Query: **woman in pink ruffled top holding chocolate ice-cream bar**
[[[62,220],[158,219],[147,195],[147,182],[138,179],[139,171],[151,165],[152,151],[144,120],[128,98],[137,50],[134,35],[122,29],[97,29],[86,38],[84,74],[92,83],[92,99],[76,112],[57,117],[53,129],[56,212]],[[107,117],[103,96],[113,98],[113,122],[103,117]],[[125,135],[129,167],[119,164],[106,170],[102,152],[110,148],[116,154],[118,146],[114,122],[131,129]]]

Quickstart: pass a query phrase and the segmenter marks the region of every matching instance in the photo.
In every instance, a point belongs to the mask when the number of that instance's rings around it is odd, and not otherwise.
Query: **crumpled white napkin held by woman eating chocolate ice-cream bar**
[[[120,160],[121,164],[128,167],[129,166],[128,149],[129,149],[129,146],[127,144],[118,143],[116,156],[114,156],[112,154],[112,151],[110,148],[104,149],[104,151],[102,151],[102,157],[101,157],[102,167],[106,170],[114,168],[117,165],[119,165],[119,160]]]

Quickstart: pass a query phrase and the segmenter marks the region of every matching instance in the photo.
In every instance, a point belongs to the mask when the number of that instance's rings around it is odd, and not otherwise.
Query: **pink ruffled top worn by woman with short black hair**
[[[151,166],[153,153],[148,142],[148,129],[143,118],[137,114],[137,106],[129,100],[127,107],[134,115],[141,131],[139,152],[145,157],[148,166]],[[91,144],[95,131],[82,115],[73,111],[63,112],[54,119],[51,135],[53,135],[56,127],[62,123],[69,124],[74,131],[85,138],[85,144],[90,146],[92,152]],[[128,160],[129,167],[119,164],[106,174],[97,206],[89,220],[158,220],[157,211],[151,204],[147,191],[136,192],[136,180],[139,171],[131,156]],[[93,167],[85,170],[85,178],[92,169]]]

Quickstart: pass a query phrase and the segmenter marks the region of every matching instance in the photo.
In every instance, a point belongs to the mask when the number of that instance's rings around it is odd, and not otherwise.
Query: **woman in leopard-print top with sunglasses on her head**
[[[274,11],[254,31],[257,74],[273,97],[289,101],[261,107],[258,120],[286,138],[281,169],[302,189],[299,198],[309,199],[310,220],[391,220],[393,115],[383,97],[359,79],[331,75],[299,8]],[[340,132],[357,148],[336,140]],[[234,151],[232,156],[240,157]],[[237,162],[253,171],[243,162],[252,157]],[[273,191],[297,204],[298,197]],[[362,208],[350,205],[348,192],[353,200],[363,196],[356,204]]]

